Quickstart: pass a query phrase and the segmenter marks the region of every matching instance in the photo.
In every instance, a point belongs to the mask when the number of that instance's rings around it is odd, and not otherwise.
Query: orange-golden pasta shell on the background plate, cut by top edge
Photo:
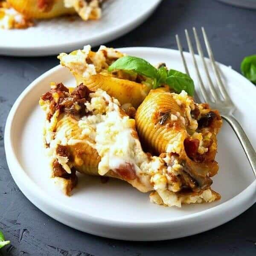
[[[8,3],[27,18],[49,19],[76,13],[75,9],[64,7],[63,0],[8,0]]]

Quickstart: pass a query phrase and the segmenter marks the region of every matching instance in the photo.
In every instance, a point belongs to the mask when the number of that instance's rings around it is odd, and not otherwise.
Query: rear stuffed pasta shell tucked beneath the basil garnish
[[[105,90],[118,99],[121,105],[130,103],[137,108],[151,88],[140,80],[141,76],[131,76],[121,71],[108,72],[108,67],[122,56],[121,52],[104,46],[92,52],[87,45],[70,54],[60,53],[58,58],[62,66],[70,69],[77,84],[83,83],[90,90]]]

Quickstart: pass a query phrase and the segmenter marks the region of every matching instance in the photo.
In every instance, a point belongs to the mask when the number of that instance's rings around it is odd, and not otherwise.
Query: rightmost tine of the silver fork
[[[224,87],[224,84],[221,81],[221,76],[219,74],[218,67],[215,63],[215,59],[214,59],[213,53],[212,53],[212,48],[210,46],[210,43],[209,43],[208,37],[206,35],[206,32],[204,30],[204,27],[202,27],[202,32],[203,32],[203,36],[204,36],[204,43],[206,45],[206,49],[207,49],[207,52],[208,52],[208,55],[209,55],[209,58],[210,58],[210,61],[212,64],[212,68],[213,68],[213,71],[214,71],[214,74],[215,74],[215,77],[217,80],[218,88],[221,92],[221,95],[223,96],[223,99],[231,102],[230,96],[228,96],[227,91]]]

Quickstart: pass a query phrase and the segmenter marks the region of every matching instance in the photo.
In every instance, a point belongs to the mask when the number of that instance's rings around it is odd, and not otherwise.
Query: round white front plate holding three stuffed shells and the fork
[[[166,62],[183,70],[179,52],[160,48],[123,48],[151,63]],[[190,55],[185,53],[189,67]],[[199,66],[201,69],[202,67]],[[253,145],[256,145],[256,88],[236,71],[220,65],[237,111]],[[191,68],[192,77],[195,77]],[[149,202],[148,193],[138,192],[125,182],[99,177],[79,177],[79,186],[71,197],[61,194],[50,183],[49,166],[42,148],[44,113],[38,106],[49,82],[62,81],[67,86],[75,80],[61,66],[54,67],[30,84],[9,113],[5,129],[7,163],[17,186],[43,212],[70,227],[114,239],[162,240],[189,236],[217,227],[244,212],[256,201],[256,181],[245,154],[232,129],[224,122],[218,135],[220,170],[213,178],[213,189],[222,198],[210,204],[163,207]]]

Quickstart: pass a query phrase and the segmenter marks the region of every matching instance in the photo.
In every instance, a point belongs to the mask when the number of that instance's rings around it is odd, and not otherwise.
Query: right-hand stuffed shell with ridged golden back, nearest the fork
[[[168,158],[170,175],[186,172],[200,190],[212,184],[210,177],[218,172],[216,134],[222,124],[218,111],[196,104],[185,91],[176,94],[159,88],[150,91],[135,120],[145,148]],[[161,201],[157,197],[154,193]]]

